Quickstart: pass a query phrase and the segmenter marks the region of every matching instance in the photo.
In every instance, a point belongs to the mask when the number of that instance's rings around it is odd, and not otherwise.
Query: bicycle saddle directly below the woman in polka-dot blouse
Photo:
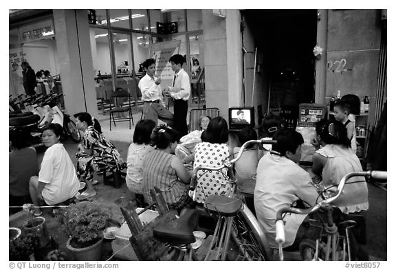
[[[206,209],[222,216],[235,216],[241,206],[242,201],[240,199],[220,195],[209,195],[205,202]]]

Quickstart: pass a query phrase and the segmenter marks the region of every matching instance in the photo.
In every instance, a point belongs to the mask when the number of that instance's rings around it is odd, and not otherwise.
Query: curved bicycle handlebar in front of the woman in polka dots
[[[238,159],[241,157],[245,148],[252,144],[276,144],[276,141],[266,140],[266,139],[257,139],[257,140],[253,139],[248,142],[245,142],[245,144],[243,144],[241,146],[241,149],[239,150],[238,155],[236,155],[236,157],[234,159],[231,159],[230,161],[224,161],[221,166],[218,166],[218,167],[198,166],[198,167],[196,167],[194,170],[192,170],[191,181],[190,181],[190,190],[195,190],[198,170],[221,170],[223,168],[230,169],[232,167],[232,164],[234,164],[236,161],[238,161]],[[266,152],[278,154],[276,151],[268,150],[264,147],[263,147],[263,149]]]

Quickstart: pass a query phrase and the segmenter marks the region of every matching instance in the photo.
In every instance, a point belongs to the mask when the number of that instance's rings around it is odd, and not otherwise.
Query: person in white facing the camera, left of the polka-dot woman
[[[177,144],[175,155],[184,163],[190,163],[194,159],[194,148],[201,142],[201,134],[208,128],[210,119],[207,115],[201,115],[199,117],[199,129],[180,138],[180,144]]]

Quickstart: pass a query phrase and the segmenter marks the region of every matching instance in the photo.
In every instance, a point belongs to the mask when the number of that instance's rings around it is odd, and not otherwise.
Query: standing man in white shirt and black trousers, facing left
[[[179,131],[180,136],[187,135],[187,109],[188,109],[188,98],[190,98],[191,85],[190,76],[183,69],[183,63],[185,59],[181,54],[175,54],[169,58],[172,70],[175,71],[175,83],[173,87],[168,87],[169,95],[174,98],[173,113],[175,115],[175,128]]]

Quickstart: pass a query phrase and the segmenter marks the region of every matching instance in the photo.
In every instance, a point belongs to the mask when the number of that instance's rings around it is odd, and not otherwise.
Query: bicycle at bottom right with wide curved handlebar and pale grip
[[[340,196],[344,185],[347,184],[347,180],[351,177],[373,177],[376,179],[386,179],[387,172],[382,171],[364,171],[364,172],[349,172],[349,174],[342,177],[338,188],[333,196],[316,203],[313,207],[307,209],[299,209],[293,207],[283,207],[276,212],[276,242],[278,243],[279,259],[283,260],[283,247],[282,244],[285,242],[285,225],[283,223],[283,214],[294,213],[294,214],[312,214],[318,212],[318,210],[325,210],[325,220],[322,221],[322,225],[318,226],[321,228],[321,232],[316,240],[304,239],[299,245],[300,256],[303,260],[353,260],[351,254],[353,253],[351,247],[350,229],[357,223],[355,221],[347,220],[339,223],[344,229],[345,235],[340,233],[338,226],[333,221],[333,208],[336,205],[331,203]],[[317,222],[316,220],[309,220]],[[325,231],[323,233],[323,230]]]

